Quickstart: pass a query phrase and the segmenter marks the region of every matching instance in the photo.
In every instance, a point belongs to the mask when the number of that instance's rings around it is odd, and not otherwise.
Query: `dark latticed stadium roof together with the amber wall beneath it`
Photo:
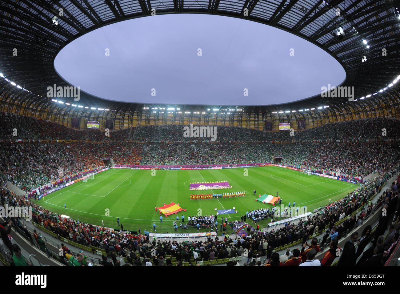
[[[4,112],[68,127],[73,119],[80,128],[86,128],[88,120],[99,121],[102,130],[109,121],[114,129],[193,123],[271,131],[277,131],[280,122],[297,130],[299,120],[304,128],[312,128],[360,118],[398,118],[400,113],[396,1],[5,0],[0,5],[0,110]],[[246,106],[245,99],[243,105],[171,105],[112,102],[86,93],[78,102],[46,96],[49,85],[71,86],[54,69],[54,58],[64,46],[107,24],[150,16],[152,9],[157,14],[242,18],[300,36],[340,62],[346,71],[340,86],[354,87],[354,100],[317,95],[288,104]]]

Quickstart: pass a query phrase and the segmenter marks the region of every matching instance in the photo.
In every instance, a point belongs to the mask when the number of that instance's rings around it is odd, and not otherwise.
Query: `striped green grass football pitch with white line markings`
[[[53,192],[36,203],[44,208],[68,215],[80,222],[117,228],[116,218],[120,218],[124,229],[152,230],[152,223],[156,222],[157,232],[172,232],[172,221],[176,215],[164,217],[160,224],[159,212],[155,206],[175,202],[187,212],[180,212],[187,217],[214,214],[214,208],[229,209],[235,207],[237,214],[225,214],[230,221],[240,219],[246,210],[272,206],[255,201],[259,194],[276,196],[276,191],[282,198],[285,206],[288,202],[296,201],[296,206],[307,206],[307,210],[328,204],[343,198],[355,190],[358,185],[338,181],[316,175],[300,174],[298,171],[276,166],[248,168],[248,175],[244,176],[243,168],[218,170],[156,170],[152,176],[151,170],[132,170],[112,168],[106,172],[96,174],[94,179],[87,182],[80,181],[66,188]],[[217,192],[246,191],[246,196],[229,199],[190,200],[190,194],[196,191],[189,190],[190,182],[212,182],[227,180],[231,189],[215,190]],[[253,196],[256,189],[257,196]],[[198,192],[200,194],[200,191]],[[201,191],[212,194],[211,190]],[[66,203],[67,209],[64,209]],[[106,216],[106,212],[109,215]],[[220,217],[218,218],[220,220]],[[268,220],[269,221],[269,220]],[[266,226],[268,221],[260,222]],[[185,232],[194,232],[190,228]]]

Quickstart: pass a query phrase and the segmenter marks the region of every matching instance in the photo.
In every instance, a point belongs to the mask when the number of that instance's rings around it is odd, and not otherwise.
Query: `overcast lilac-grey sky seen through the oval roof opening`
[[[202,14],[105,26],[68,44],[54,66],[67,82],[94,96],[165,104],[282,104],[320,94],[321,87],[337,86],[346,77],[328,53],[293,34]]]

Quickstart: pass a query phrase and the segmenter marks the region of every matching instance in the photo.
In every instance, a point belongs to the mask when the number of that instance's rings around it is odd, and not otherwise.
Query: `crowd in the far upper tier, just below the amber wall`
[[[210,138],[184,138],[186,125],[146,125],[110,131],[106,136],[100,130],[75,130],[61,124],[0,112],[0,134],[3,139],[64,139],[64,140],[136,140],[136,141],[208,141]],[[205,126],[205,125],[194,125]],[[209,126],[214,127],[214,126]],[[366,118],[323,124],[296,131],[264,132],[237,126],[215,126],[220,142],[264,142],[292,140],[356,140],[400,138],[400,120],[393,118]],[[293,126],[296,128],[296,126]],[[14,129],[17,130],[16,135]]]

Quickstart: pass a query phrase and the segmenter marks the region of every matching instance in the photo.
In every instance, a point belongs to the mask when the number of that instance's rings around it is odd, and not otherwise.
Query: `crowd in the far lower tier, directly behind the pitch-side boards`
[[[90,168],[104,165],[111,158],[122,165],[246,164],[270,162],[283,156],[281,164],[308,166],[317,170],[364,177],[391,169],[398,152],[376,143],[304,144],[132,144],[127,142],[0,143],[4,159],[0,181],[9,180],[22,190],[36,189]],[[378,156],[379,154],[379,156]]]

